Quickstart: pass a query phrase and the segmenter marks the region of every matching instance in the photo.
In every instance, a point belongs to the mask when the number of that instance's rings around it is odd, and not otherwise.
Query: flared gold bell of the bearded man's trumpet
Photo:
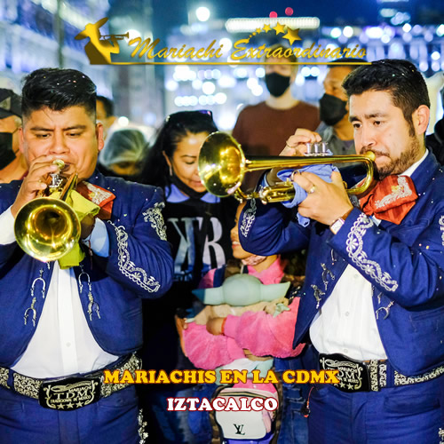
[[[199,176],[211,194],[226,197],[242,184],[245,155],[241,146],[225,132],[213,132],[199,154]]]

